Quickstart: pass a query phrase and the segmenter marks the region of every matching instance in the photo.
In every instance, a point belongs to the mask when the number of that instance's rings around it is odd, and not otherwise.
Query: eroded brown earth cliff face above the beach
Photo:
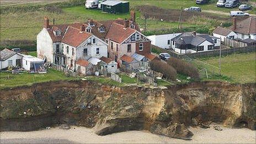
[[[201,82],[152,89],[89,81],[47,82],[1,90],[1,130],[70,122],[93,127],[98,135],[149,130],[189,140],[193,134],[186,127],[209,121],[255,129],[255,104],[255,83]],[[30,127],[18,125],[20,121]]]

